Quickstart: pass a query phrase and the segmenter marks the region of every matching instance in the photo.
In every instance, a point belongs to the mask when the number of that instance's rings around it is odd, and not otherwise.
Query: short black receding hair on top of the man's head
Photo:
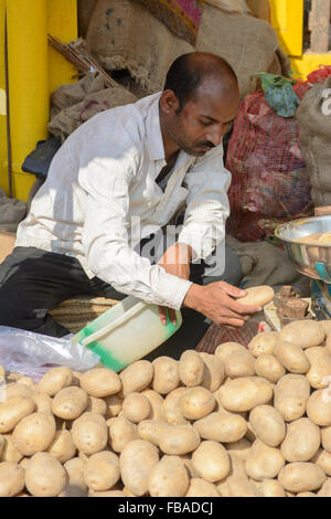
[[[201,60],[194,60],[194,56]],[[191,52],[179,56],[172,63],[166,78],[164,91],[172,91],[179,99],[178,114],[194,95],[207,75],[221,77],[229,75],[237,81],[236,74],[223,57],[214,54]]]

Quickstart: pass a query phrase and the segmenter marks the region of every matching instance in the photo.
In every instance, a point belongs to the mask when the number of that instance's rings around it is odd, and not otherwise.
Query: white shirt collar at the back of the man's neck
[[[146,118],[146,146],[151,160],[166,160],[159,109],[161,92],[153,97]]]

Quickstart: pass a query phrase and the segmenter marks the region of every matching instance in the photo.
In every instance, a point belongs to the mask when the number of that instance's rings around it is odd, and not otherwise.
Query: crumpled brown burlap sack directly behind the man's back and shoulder
[[[87,84],[89,84],[89,89],[84,95]],[[53,95],[53,102],[63,109],[51,119],[50,133],[64,141],[70,134],[94,115],[137,100],[134,94],[122,86],[98,89],[103,84],[104,81],[100,78],[95,82],[87,78],[73,85],[61,86]]]

